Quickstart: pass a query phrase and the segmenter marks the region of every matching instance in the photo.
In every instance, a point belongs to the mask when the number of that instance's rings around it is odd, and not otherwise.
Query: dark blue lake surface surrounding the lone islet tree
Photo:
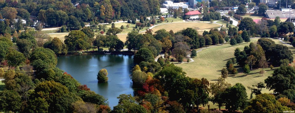
[[[132,55],[78,55],[58,57],[57,67],[71,74],[82,85],[108,99],[111,109],[118,104],[120,94],[132,94]],[[107,83],[97,83],[97,73],[105,68],[108,71]]]

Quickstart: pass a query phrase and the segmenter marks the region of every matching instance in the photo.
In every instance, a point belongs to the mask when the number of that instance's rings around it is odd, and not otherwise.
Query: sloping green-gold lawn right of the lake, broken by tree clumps
[[[251,39],[251,42],[257,42],[259,38]],[[281,44],[279,40],[273,39],[276,43]],[[249,45],[250,43],[242,43],[240,45],[231,46],[229,43],[224,45],[218,45],[213,48],[204,49],[197,54],[196,58],[193,58],[195,61],[191,63],[176,64],[183,68],[187,76],[192,78],[207,78],[209,82],[216,82],[218,77],[221,76],[221,69],[226,68],[225,64],[230,58],[234,58],[235,48],[240,48],[243,50],[244,46]],[[290,47],[292,53],[294,53],[294,48]],[[293,55],[294,56],[294,55]],[[239,66],[234,65],[235,68]],[[242,83],[246,89],[247,86],[255,85],[259,82],[264,82],[268,76],[271,76],[274,69],[266,68],[266,73],[264,76],[259,74],[260,69],[251,71],[248,76],[245,76],[242,69],[238,69],[239,73],[236,76],[229,75],[226,78],[228,83],[235,85],[235,83]],[[263,89],[262,93],[271,93],[268,89]],[[250,97],[250,90],[247,89],[248,97]]]

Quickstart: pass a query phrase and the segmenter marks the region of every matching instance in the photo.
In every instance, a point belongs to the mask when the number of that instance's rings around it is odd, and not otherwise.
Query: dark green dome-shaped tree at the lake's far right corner
[[[134,55],[134,62],[148,62],[154,59],[152,52],[148,48],[140,48]]]

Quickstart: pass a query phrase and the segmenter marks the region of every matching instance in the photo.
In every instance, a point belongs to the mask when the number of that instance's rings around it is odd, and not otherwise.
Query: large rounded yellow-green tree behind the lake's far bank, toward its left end
[[[85,49],[89,42],[88,38],[82,31],[71,31],[69,35],[65,36],[65,44],[68,46],[69,50]]]

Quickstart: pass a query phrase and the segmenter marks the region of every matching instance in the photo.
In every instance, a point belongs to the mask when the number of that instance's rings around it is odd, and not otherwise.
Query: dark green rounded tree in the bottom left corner
[[[0,109],[5,112],[19,112],[22,106],[21,96],[13,90],[0,92],[0,103]]]

